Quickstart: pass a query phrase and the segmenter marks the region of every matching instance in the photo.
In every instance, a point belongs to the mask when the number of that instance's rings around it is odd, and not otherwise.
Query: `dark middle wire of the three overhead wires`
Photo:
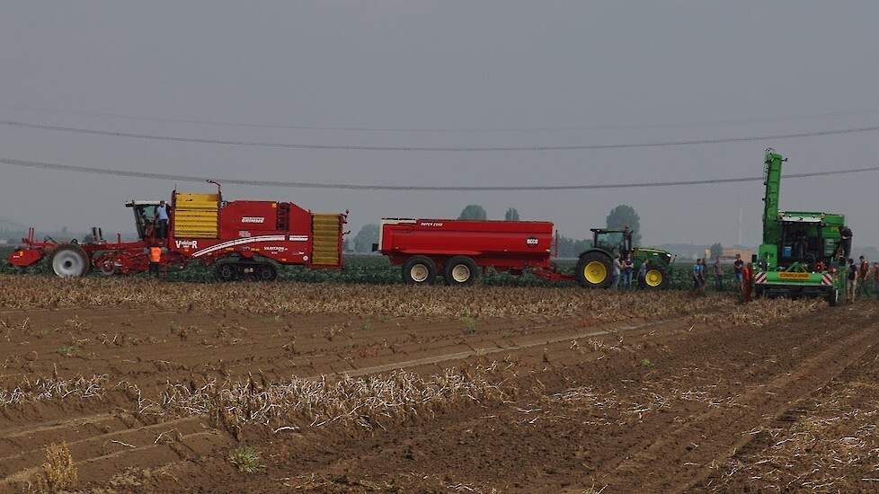
[[[807,132],[795,132],[791,134],[774,134],[767,136],[751,136],[751,137],[719,137],[711,139],[693,139],[679,141],[662,141],[647,143],[620,143],[620,144],[596,144],[596,145],[573,145],[573,146],[461,146],[461,147],[437,147],[437,146],[360,146],[360,145],[324,145],[324,144],[304,144],[304,143],[272,143],[261,141],[245,141],[245,140],[226,140],[226,139],[208,139],[201,137],[176,137],[176,136],[160,136],[154,134],[138,134],[133,132],[117,132],[111,130],[95,130],[91,128],[65,127],[58,125],[33,124],[28,122],[20,122],[13,120],[0,120],[0,124],[20,127],[32,128],[38,130],[53,130],[59,132],[72,132],[75,134],[86,134],[92,136],[107,137],[129,137],[137,139],[148,139],[158,141],[173,141],[183,143],[197,144],[216,144],[226,146],[249,146],[249,147],[276,147],[283,149],[316,149],[316,150],[343,150],[343,151],[415,151],[415,152],[493,152],[493,151],[583,151],[594,149],[629,149],[637,147],[671,147],[671,146],[699,146],[708,144],[723,143],[741,143],[751,141],[767,141],[792,139],[797,137],[819,137],[819,136],[839,136],[843,134],[858,134],[865,132],[875,132],[879,130],[879,126],[856,127],[856,128],[839,128],[830,130],[813,130]]]

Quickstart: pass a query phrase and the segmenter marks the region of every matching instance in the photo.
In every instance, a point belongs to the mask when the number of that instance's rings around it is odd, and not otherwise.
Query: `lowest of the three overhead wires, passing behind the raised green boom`
[[[24,160],[0,158],[0,164],[18,166],[22,168],[58,170],[62,172],[91,173],[96,175],[109,175],[116,177],[134,177],[150,180],[164,181],[192,181],[204,182],[214,180],[220,183],[232,183],[237,185],[252,185],[257,187],[285,187],[293,189],[332,189],[332,190],[397,190],[397,191],[539,191],[539,190],[599,190],[599,189],[639,189],[651,187],[672,187],[680,185],[707,185],[721,183],[738,183],[746,181],[763,181],[762,176],[737,177],[728,179],[708,179],[700,181],[651,181],[639,183],[602,183],[602,184],[577,184],[577,185],[528,185],[528,186],[485,186],[485,187],[458,187],[458,186],[421,186],[421,185],[382,185],[382,184],[357,184],[357,183],[326,183],[304,181],[254,181],[242,179],[219,179],[216,177],[195,177],[191,175],[174,175],[170,173],[129,172],[126,170],[111,170],[94,168],[89,166],[76,166],[71,164],[42,163]],[[830,175],[848,175],[862,172],[879,172],[879,166],[866,168],[850,168],[848,170],[833,170],[826,172],[792,173],[785,175],[786,179],[826,177]]]

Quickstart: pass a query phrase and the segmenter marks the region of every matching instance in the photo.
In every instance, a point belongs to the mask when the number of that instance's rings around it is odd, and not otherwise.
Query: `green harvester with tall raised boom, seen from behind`
[[[763,243],[754,254],[757,296],[820,296],[831,304],[845,293],[839,262],[843,215],[814,211],[780,211],[782,163],[775,150],[765,155],[766,195],[763,198]]]

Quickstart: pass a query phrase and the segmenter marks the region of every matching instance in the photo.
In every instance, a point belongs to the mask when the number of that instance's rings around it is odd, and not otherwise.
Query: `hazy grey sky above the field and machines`
[[[2,120],[219,140],[435,147],[625,144],[879,125],[876,2],[3,4]],[[168,121],[181,119],[318,129]],[[791,173],[875,166],[877,137],[391,152],[0,125],[0,158],[205,178],[528,186],[754,176],[768,146],[789,159]],[[782,183],[781,206],[846,214],[855,243],[876,245],[877,184],[879,172],[791,179]],[[130,232],[124,202],[170,198],[174,186],[0,164],[0,217],[47,230],[99,225],[105,234]],[[641,216],[644,242],[656,244],[758,244],[762,195],[760,182],[553,192],[224,187],[226,199],[350,210],[354,233],[381,217],[456,217],[476,203],[493,218],[516,207],[523,219],[553,221],[561,234],[584,237],[626,203]]]

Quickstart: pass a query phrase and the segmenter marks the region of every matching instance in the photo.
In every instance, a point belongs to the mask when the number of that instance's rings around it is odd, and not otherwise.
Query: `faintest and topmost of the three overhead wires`
[[[824,113],[813,113],[808,115],[793,115],[789,117],[765,117],[751,119],[721,119],[709,121],[690,121],[690,122],[665,122],[653,124],[620,124],[620,125],[595,125],[595,126],[557,126],[557,127],[533,127],[533,128],[376,128],[376,127],[355,127],[355,126],[321,126],[321,125],[305,125],[305,124],[282,124],[282,123],[260,123],[260,122],[232,122],[226,120],[209,120],[209,119],[174,119],[163,117],[151,117],[144,115],[129,115],[125,113],[114,113],[110,111],[83,111],[83,110],[52,110],[48,108],[29,108],[19,106],[5,106],[3,108],[17,111],[41,112],[57,115],[75,115],[83,117],[98,117],[110,119],[126,119],[140,120],[148,122],[164,122],[164,123],[184,123],[216,127],[232,127],[232,128],[279,128],[288,130],[323,130],[323,131],[342,131],[342,132],[397,132],[397,133],[436,133],[436,134],[476,134],[476,133],[553,133],[568,132],[574,130],[636,130],[639,128],[693,128],[708,127],[722,125],[745,125],[755,123],[775,123],[790,122],[804,119],[821,119],[832,117],[855,117],[864,115],[875,115],[879,110],[865,111],[828,111]]]

